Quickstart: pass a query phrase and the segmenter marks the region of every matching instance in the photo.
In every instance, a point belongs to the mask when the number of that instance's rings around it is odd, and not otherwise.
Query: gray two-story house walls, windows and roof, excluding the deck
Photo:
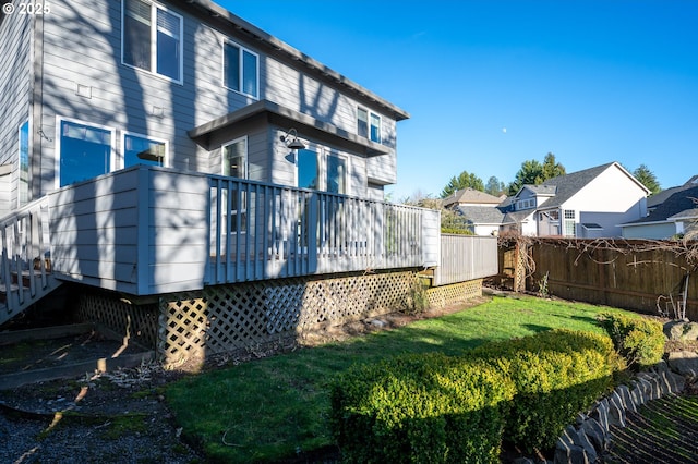
[[[372,199],[396,181],[407,112],[213,2],[19,7],[0,17],[5,211],[135,164]]]

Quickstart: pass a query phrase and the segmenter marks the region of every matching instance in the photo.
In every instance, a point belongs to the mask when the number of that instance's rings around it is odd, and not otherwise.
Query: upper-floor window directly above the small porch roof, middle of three
[[[258,97],[260,57],[230,41],[222,42],[222,85],[250,97]]]

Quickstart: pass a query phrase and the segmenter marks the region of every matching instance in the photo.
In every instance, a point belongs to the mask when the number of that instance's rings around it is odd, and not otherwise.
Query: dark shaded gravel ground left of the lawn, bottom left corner
[[[191,463],[156,367],[0,392],[1,463]]]

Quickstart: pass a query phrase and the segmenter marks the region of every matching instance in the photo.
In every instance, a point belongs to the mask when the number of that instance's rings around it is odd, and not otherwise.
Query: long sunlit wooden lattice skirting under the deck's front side
[[[216,285],[161,300],[166,363],[232,351],[405,306],[413,272]]]

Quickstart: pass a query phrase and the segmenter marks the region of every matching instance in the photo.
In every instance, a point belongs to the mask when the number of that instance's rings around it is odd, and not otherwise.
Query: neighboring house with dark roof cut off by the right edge
[[[654,196],[659,198],[654,199]],[[698,223],[698,176],[650,199],[654,200],[647,217],[621,224],[625,239],[664,240],[695,230]]]

